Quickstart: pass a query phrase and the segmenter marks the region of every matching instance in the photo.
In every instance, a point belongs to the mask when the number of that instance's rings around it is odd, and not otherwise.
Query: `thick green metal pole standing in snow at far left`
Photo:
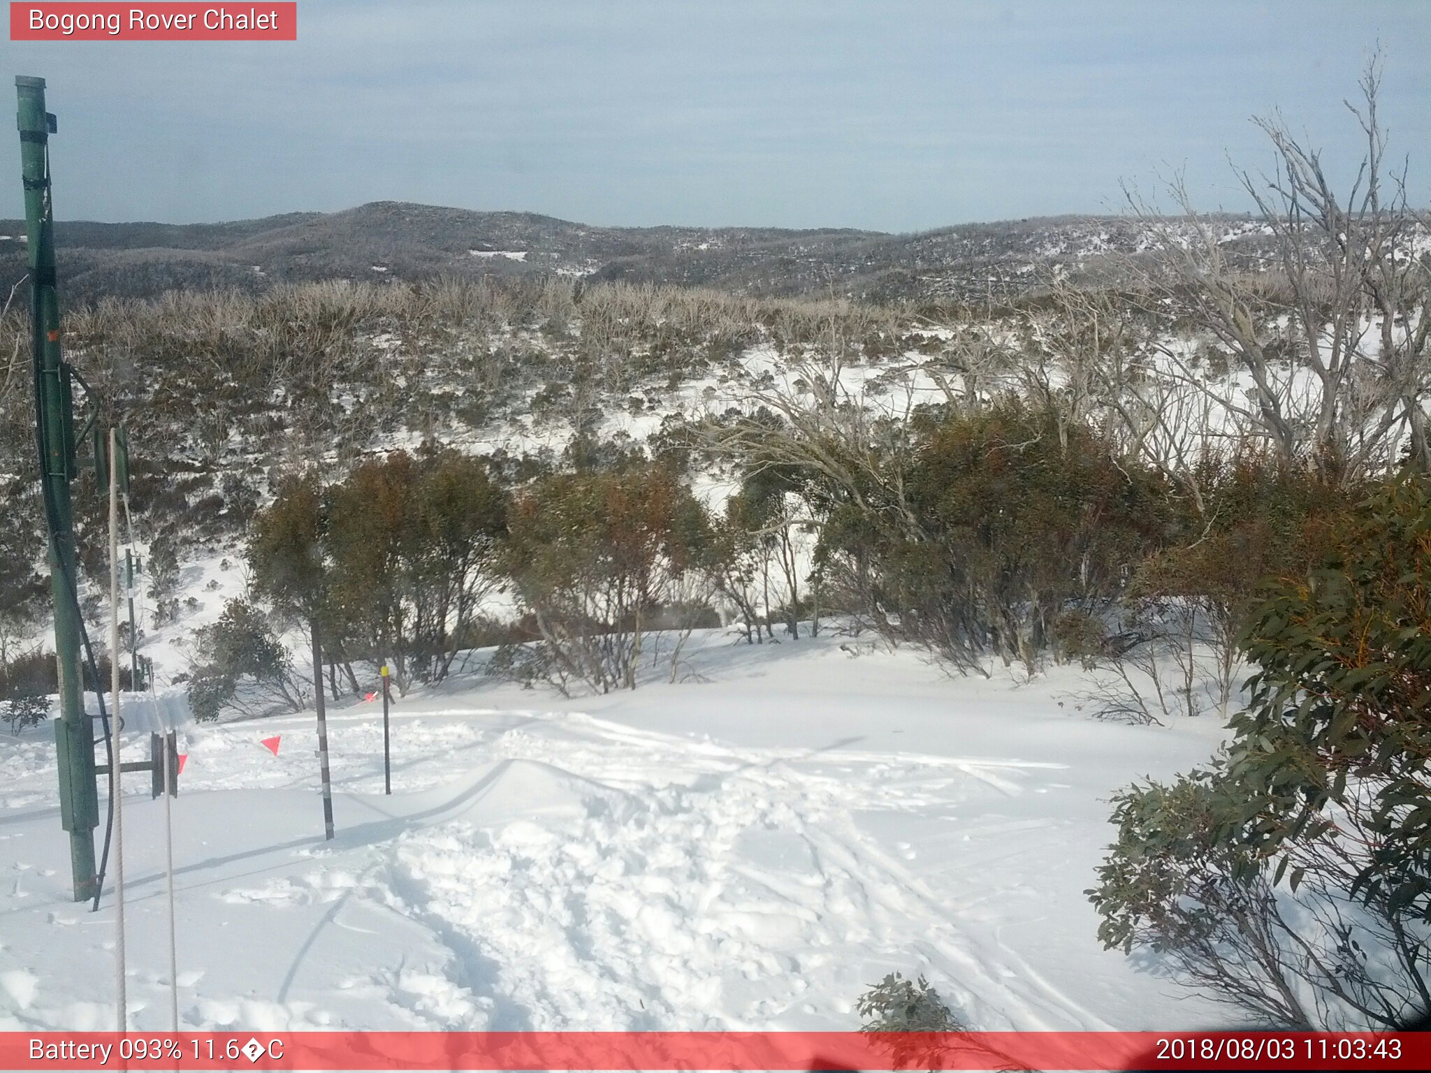
[[[44,110],[44,79],[21,74],[14,84],[20,103],[20,165],[29,227],[36,428],[50,531],[50,591],[54,597],[54,655],[60,687],[60,718],[54,724],[60,825],[70,833],[74,900],[89,901],[94,897],[96,884],[94,827],[99,824],[99,794],[94,784],[94,728],[84,712],[80,629],[72,588],[74,521],[70,481],[74,476],[74,431],[69,426],[70,383],[60,358],[60,302],[54,286],[54,210],[50,202],[49,162],[54,117]]]

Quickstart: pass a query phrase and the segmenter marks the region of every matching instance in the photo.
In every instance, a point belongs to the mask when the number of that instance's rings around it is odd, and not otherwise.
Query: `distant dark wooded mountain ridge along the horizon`
[[[1251,223],[1225,217],[1229,235]],[[0,285],[24,275],[23,223],[0,220]],[[597,227],[521,212],[372,202],[333,213],[230,223],[56,227],[69,302],[167,289],[260,290],[280,280],[554,273],[713,286],[753,295],[900,300],[1027,289],[1053,266],[1083,270],[1141,248],[1138,225],[1068,216],[917,235],[853,229]]]

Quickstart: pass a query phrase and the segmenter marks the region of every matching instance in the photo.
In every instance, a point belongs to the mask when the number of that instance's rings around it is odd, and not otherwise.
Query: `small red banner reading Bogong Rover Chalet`
[[[11,3],[11,41],[296,41],[296,3]]]

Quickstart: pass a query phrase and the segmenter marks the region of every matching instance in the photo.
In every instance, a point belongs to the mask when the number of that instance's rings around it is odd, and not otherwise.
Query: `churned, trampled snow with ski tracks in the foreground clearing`
[[[811,971],[876,947],[924,954],[982,1021],[1108,1027],[999,944],[973,943],[957,907],[853,818],[856,807],[949,803],[950,768],[1013,795],[1023,771],[1060,765],[839,751],[827,757],[841,764],[836,778],[801,764],[821,760],[811,750],[693,747],[580,712],[550,720],[575,740],[507,730],[482,748],[501,757],[497,781],[580,807],[542,825],[458,820],[373,851],[361,897],[428,927],[451,953],[448,979],[376,974],[348,987],[385,987],[409,1007],[415,991],[445,996],[411,1007],[434,1027],[488,1011],[492,1029],[758,1029],[801,1006],[817,1013],[804,994]],[[306,904],[335,884],[352,886],[313,871],[225,897]],[[990,993],[1005,1001],[975,997]]]

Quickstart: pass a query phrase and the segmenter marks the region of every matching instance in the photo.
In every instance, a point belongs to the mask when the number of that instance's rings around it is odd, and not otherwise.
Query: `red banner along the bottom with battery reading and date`
[[[0,1069],[1345,1070],[1431,1069],[1425,1033],[0,1033]]]

